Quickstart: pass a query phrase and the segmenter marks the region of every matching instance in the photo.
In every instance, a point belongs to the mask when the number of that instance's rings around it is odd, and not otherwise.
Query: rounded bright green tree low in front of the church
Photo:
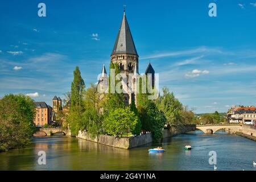
[[[130,108],[117,108],[109,111],[108,117],[104,119],[104,129],[111,135],[134,131],[139,118]]]

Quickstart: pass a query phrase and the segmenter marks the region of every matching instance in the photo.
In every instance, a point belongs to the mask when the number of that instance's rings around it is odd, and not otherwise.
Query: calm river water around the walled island
[[[185,151],[185,145],[192,146]],[[163,154],[148,148],[162,146]],[[46,165],[38,152],[46,152]],[[256,142],[222,131],[214,135],[193,131],[132,150],[113,148],[72,137],[34,138],[23,150],[0,153],[0,170],[213,170],[209,152],[216,151],[217,170],[253,170]]]

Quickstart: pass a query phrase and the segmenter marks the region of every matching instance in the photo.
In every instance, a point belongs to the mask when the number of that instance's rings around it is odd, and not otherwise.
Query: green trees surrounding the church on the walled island
[[[110,69],[115,69],[115,74],[120,73],[118,64],[110,63]],[[157,100],[148,100],[148,92],[139,92],[137,106],[134,101],[130,106],[125,106],[123,93],[98,93],[95,84],[90,84],[86,89],[79,67],[76,67],[73,75],[71,92],[67,94],[70,108],[66,126],[74,135],[80,130],[92,136],[151,133],[154,140],[159,141],[163,137],[164,126],[185,125],[195,118],[195,114],[184,107],[166,87]],[[114,84],[117,85],[117,82],[115,80]]]

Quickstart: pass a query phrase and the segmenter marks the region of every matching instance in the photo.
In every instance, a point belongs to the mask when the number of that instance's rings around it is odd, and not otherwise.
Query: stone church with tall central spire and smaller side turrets
[[[121,26],[117,34],[117,39],[115,40],[112,54],[110,55],[110,61],[112,61],[114,64],[118,64],[121,73],[126,75],[127,81],[125,84],[129,85],[130,83],[132,85],[132,92],[126,90],[127,92],[124,94],[125,105],[129,106],[132,101],[135,101],[135,104],[137,105],[135,89],[139,77],[139,55],[134,44],[133,36],[131,35],[131,30],[127,22],[125,10],[123,11]],[[133,76],[129,77],[131,74]],[[152,86],[154,87],[155,71],[150,63],[148,64],[145,72],[145,75],[148,74],[151,74]],[[105,65],[103,65],[101,77],[98,80],[98,86],[100,86],[101,90],[108,89],[108,75],[106,73]]]

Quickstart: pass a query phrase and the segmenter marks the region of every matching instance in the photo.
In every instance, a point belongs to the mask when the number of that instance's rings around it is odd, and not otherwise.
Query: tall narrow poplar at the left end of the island
[[[79,67],[74,71],[74,80],[71,84],[71,106],[67,116],[71,133],[77,135],[82,127],[82,113],[85,110],[84,93],[85,83],[81,77]]]

